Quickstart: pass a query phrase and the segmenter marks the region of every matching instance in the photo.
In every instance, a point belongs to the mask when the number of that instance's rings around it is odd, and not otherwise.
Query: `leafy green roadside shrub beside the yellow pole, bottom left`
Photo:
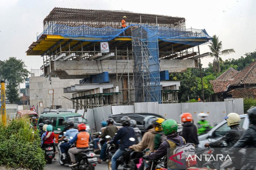
[[[45,152],[40,148],[38,131],[30,128],[29,119],[13,119],[5,126],[0,120],[0,136],[0,164],[43,170]]]

